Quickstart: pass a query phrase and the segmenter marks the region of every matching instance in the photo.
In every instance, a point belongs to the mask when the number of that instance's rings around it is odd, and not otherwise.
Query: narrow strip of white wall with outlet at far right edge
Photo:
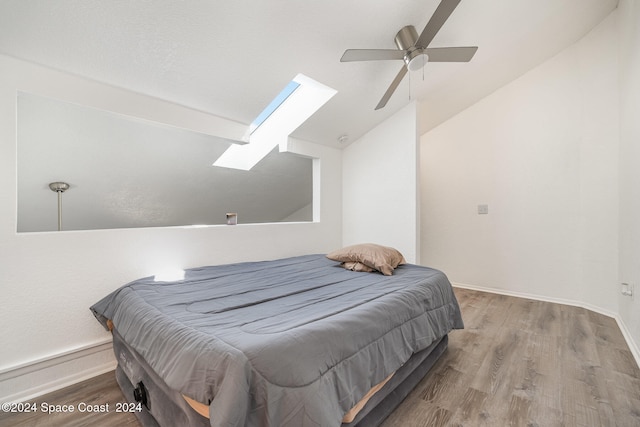
[[[640,2],[620,0],[620,317],[640,349]],[[640,353],[640,350],[636,350]]]

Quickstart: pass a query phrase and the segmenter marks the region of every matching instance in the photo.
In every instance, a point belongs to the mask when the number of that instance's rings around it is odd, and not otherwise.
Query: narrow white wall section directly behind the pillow
[[[379,243],[419,259],[416,104],[343,150],[343,244]]]

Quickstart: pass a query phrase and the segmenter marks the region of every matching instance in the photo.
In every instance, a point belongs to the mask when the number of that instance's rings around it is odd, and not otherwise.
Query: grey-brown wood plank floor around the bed
[[[640,369],[615,320],[591,311],[455,289],[465,329],[383,427],[640,426]],[[113,373],[34,399],[110,403],[104,414],[7,414],[0,426],[138,426],[116,413]]]

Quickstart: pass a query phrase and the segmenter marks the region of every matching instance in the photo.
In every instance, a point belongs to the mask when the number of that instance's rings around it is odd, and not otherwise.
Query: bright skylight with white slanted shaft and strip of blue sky
[[[276,145],[286,147],[289,135],[337,91],[298,74],[249,127],[249,143],[232,145],[214,166],[249,170]]]

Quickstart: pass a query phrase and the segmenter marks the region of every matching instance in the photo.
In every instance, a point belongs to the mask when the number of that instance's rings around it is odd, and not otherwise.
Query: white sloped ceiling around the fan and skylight
[[[338,94],[294,134],[339,146],[418,99],[429,129],[574,43],[617,0],[463,0],[431,47],[477,45],[467,64],[428,64],[374,107],[401,62],[341,63],[395,48],[439,0],[2,0],[0,53],[249,124],[297,74]]]

